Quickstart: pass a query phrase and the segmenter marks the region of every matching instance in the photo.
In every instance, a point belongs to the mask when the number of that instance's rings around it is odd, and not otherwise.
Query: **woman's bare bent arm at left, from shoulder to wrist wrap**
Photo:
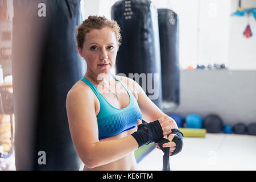
[[[138,148],[131,135],[99,142],[93,94],[84,88],[75,88],[69,91],[66,101],[73,144],[88,168],[114,162]]]

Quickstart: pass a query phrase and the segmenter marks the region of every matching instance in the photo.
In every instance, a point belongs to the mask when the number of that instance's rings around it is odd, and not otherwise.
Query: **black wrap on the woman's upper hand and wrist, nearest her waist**
[[[158,142],[163,138],[163,130],[158,120],[138,126],[138,130],[131,134],[138,142],[139,147],[151,142]]]

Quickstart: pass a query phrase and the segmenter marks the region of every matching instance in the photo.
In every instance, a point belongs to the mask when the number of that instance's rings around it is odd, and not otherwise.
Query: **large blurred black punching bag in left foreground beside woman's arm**
[[[14,0],[17,170],[79,170],[65,101],[85,72],[76,49],[79,0]]]

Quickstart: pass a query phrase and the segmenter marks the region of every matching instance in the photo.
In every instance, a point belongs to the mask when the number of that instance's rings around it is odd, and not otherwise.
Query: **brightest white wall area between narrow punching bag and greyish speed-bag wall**
[[[153,0],[174,10],[180,20],[181,68],[196,64],[228,65],[230,0]]]

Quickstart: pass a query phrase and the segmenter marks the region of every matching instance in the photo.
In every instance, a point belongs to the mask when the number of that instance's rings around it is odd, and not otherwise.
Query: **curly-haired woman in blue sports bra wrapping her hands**
[[[139,144],[132,134],[142,119],[158,119],[164,136],[177,125],[137,82],[110,73],[121,39],[114,20],[89,16],[77,31],[77,49],[87,64],[84,77],[67,95],[69,129],[77,154],[84,170],[136,170],[134,151]],[[175,150],[174,142],[163,146],[171,147],[170,154]]]

